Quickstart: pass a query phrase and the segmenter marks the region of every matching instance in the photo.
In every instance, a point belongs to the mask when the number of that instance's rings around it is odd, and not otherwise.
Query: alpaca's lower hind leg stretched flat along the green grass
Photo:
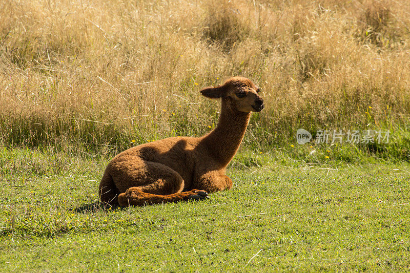
[[[192,190],[170,195],[156,195],[142,192],[139,187],[131,187],[118,196],[120,206],[140,206],[144,204],[160,204],[208,198],[207,192]]]

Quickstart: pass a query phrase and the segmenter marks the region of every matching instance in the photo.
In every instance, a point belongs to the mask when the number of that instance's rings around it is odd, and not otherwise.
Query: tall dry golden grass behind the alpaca
[[[198,90],[232,75],[267,104],[248,143],[299,127],[406,131],[409,28],[399,0],[4,0],[1,142],[117,151],[202,134],[218,107]]]

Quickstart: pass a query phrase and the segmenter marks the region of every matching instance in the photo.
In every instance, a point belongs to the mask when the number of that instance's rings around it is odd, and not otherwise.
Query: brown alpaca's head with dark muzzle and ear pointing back
[[[243,113],[260,112],[263,109],[263,99],[258,93],[259,88],[250,79],[242,77],[232,77],[221,86],[201,90],[202,95],[225,99],[232,110]]]

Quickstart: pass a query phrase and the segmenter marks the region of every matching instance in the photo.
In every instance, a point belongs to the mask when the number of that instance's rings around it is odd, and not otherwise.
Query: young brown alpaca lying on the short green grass
[[[238,151],[251,112],[263,109],[263,99],[259,88],[241,77],[200,92],[222,98],[217,127],[202,137],[170,137],[118,154],[99,184],[102,202],[129,206],[195,200],[231,188],[226,166]]]

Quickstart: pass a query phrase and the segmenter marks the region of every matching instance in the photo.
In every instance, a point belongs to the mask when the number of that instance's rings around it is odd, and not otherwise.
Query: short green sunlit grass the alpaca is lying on
[[[108,159],[2,150],[0,267],[410,270],[408,163],[245,155],[228,170],[231,191],[207,201],[103,209],[97,185]]]

